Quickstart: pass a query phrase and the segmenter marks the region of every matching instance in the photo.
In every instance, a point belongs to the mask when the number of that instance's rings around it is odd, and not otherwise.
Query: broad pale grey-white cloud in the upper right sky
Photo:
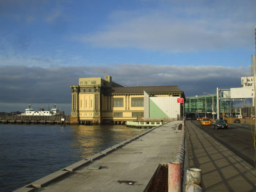
[[[255,2],[252,4],[256,5]],[[162,10],[118,11],[109,24],[79,40],[106,48],[139,48],[164,52],[192,52],[253,46],[256,12],[252,4],[201,4]],[[240,6],[245,9],[241,11]],[[233,10],[231,9],[233,8]],[[251,13],[250,11],[254,11]]]

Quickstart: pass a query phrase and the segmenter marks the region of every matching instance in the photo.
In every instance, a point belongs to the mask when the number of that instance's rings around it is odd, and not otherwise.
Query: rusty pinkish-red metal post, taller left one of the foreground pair
[[[181,192],[181,163],[170,162],[168,165],[168,192]]]

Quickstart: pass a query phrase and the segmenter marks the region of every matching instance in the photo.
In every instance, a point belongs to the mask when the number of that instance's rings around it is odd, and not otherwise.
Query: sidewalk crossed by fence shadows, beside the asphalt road
[[[202,169],[202,187],[209,192],[255,192],[255,168],[206,132],[186,121],[189,166]]]

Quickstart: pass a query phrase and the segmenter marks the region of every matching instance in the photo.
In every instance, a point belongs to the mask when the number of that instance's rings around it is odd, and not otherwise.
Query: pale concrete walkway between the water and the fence
[[[180,123],[173,121],[155,128],[105,157],[80,167],[73,174],[49,183],[39,191],[141,192],[159,163],[167,164],[173,160],[181,136],[181,130],[174,128]],[[97,169],[99,166],[102,166],[101,169]]]

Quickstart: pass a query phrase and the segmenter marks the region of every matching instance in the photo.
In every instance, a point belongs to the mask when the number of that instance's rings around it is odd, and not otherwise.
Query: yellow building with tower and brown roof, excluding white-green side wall
[[[178,86],[123,87],[111,76],[79,78],[71,86],[71,123],[144,120],[144,91],[152,97],[185,97]]]

